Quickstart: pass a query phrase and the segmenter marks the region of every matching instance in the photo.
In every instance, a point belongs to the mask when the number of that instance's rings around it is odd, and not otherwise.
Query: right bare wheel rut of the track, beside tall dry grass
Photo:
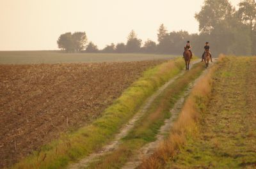
[[[213,64],[211,64],[209,67],[211,67]],[[206,69],[202,75],[200,75],[200,77],[203,77],[205,75],[205,73],[207,73],[209,69]],[[177,117],[179,117],[179,113],[180,110],[183,107],[184,101],[186,99],[186,97],[189,95],[189,93],[191,92],[191,89],[193,89],[193,86],[196,84],[196,82],[200,79],[200,77],[196,78],[196,80],[194,82],[191,82],[191,84],[189,84],[189,87],[186,89],[186,91],[184,92],[184,94],[180,97],[180,99],[175,103],[175,105],[173,106],[173,108],[170,110],[172,116],[169,119],[166,119],[164,121],[164,125],[161,126],[161,128],[159,129],[159,133],[156,136],[156,141],[148,143],[147,145],[145,145],[144,147],[142,147],[136,154],[136,156],[132,157],[129,162],[127,162],[122,169],[134,169],[137,166],[139,166],[141,164],[141,161],[143,160],[143,158],[147,158],[148,156],[150,156],[151,154],[153,154],[157,147],[159,146],[159,143],[161,143],[161,141],[163,141],[163,139],[168,135],[168,133],[170,133],[170,129],[172,128],[174,122],[176,121]]]

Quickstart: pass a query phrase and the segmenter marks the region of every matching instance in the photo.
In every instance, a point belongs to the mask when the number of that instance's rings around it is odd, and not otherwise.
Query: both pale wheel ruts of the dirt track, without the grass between
[[[197,62],[198,61],[193,62],[191,64],[191,67],[193,66],[193,64],[196,64]],[[177,80],[177,78],[182,77],[182,75],[184,75],[184,73],[186,73],[185,70],[180,72],[175,77],[171,78],[168,82],[166,82],[166,84],[164,84],[154,94],[152,94],[152,96],[150,96],[145,101],[145,103],[142,105],[140,110],[132,117],[132,119],[130,119],[130,121],[127,122],[127,124],[124,124],[124,126],[120,129],[119,133],[115,136],[115,138],[110,143],[108,143],[108,145],[105,145],[104,147],[102,147],[102,149],[99,152],[94,152],[94,153],[90,154],[89,156],[87,156],[86,158],[81,159],[77,163],[70,164],[67,168],[68,169],[87,168],[88,165],[90,165],[90,163],[93,163],[93,162],[97,161],[100,157],[105,156],[106,154],[110,154],[111,152],[115,151],[119,147],[120,143],[122,143],[122,138],[127,136],[128,133],[134,128],[134,125],[136,124],[136,122],[139,119],[141,119],[141,117],[143,117],[143,115],[145,115],[145,113],[148,111],[148,109],[150,108],[152,103],[154,103],[154,101],[156,100],[157,96],[159,96],[161,93],[163,93],[163,91],[168,86],[172,85],[173,82],[175,82],[175,80]],[[177,101],[177,104],[175,105],[174,109],[176,108],[178,110],[179,107],[182,107],[184,98],[186,98],[189,91],[190,91],[190,87],[189,87],[188,91],[186,91],[184,93],[184,96],[182,96],[181,99],[179,101]],[[164,126],[162,126],[162,128],[159,131],[159,135],[157,135],[157,140],[163,139],[164,133],[166,133],[166,131],[169,131],[169,129],[171,127],[170,124],[172,124],[172,121],[174,119],[176,119],[178,113],[179,113],[179,111],[172,112],[171,119],[168,119],[164,122]],[[152,142],[149,145],[150,146],[147,148],[147,150],[145,149],[145,151],[144,151],[146,153],[142,153],[142,154],[148,154],[149,153],[148,150],[151,149],[152,147],[156,147],[157,143]],[[142,156],[139,156],[139,157],[140,158],[134,158],[134,159],[132,158],[132,160],[129,163],[127,163],[127,165],[125,165],[125,168],[131,168],[131,166],[133,168],[135,168],[136,165],[139,165],[140,164],[139,161]],[[136,162],[136,165],[134,165],[135,162]]]

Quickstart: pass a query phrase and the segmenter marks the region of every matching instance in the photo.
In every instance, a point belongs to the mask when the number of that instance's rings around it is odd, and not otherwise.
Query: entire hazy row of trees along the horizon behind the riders
[[[228,0],[205,0],[195,18],[199,22],[200,33],[169,32],[161,24],[157,31],[157,43],[152,40],[142,43],[134,30],[127,36],[126,43],[111,43],[102,50],[92,41],[88,42],[84,32],[61,34],[57,43],[66,52],[182,54],[189,40],[193,52],[200,55],[205,41],[209,41],[213,55],[256,55],[255,0],[242,0],[237,10]]]

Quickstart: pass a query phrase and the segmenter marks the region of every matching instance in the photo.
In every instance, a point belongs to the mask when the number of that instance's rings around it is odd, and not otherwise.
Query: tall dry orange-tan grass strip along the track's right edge
[[[223,61],[221,55],[218,62]],[[186,99],[179,118],[173,124],[172,131],[168,139],[159,144],[157,151],[147,159],[143,159],[141,169],[164,168],[170,158],[173,158],[180,147],[186,142],[186,136],[197,132],[198,118],[201,112],[205,111],[211,93],[212,75],[218,68],[218,64],[212,66],[211,70],[196,82],[191,94]]]

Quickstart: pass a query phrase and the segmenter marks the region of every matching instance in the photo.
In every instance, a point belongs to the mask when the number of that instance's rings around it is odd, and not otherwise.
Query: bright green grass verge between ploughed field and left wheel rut
[[[104,111],[102,117],[89,126],[45,145],[12,168],[63,168],[70,161],[76,161],[97,151],[113,138],[148,96],[183,68],[183,59],[175,59],[145,71],[143,77],[125,90],[122,96]]]

